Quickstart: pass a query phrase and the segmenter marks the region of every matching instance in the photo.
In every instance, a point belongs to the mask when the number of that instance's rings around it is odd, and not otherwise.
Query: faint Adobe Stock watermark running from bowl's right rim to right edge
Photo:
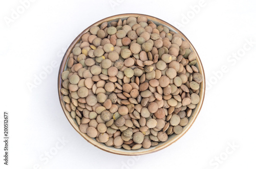
[[[212,89],[212,87],[223,78],[224,74],[229,72],[230,67],[236,66],[238,61],[240,61],[246,55],[246,52],[250,51],[255,46],[256,41],[253,41],[252,38],[250,38],[249,40],[245,39],[245,43],[242,45],[241,48],[239,48],[236,52],[228,55],[226,59],[227,64],[222,65],[220,70],[212,72],[214,75],[206,80],[205,91],[208,92],[210,89]]]

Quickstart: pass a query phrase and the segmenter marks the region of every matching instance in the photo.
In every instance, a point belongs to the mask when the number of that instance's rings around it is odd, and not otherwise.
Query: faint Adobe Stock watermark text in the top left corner
[[[17,20],[20,15],[24,14],[27,9],[29,9],[31,3],[34,3],[36,0],[20,0],[19,6],[16,8],[11,9],[11,15],[10,16],[4,16],[5,23],[8,27],[11,26],[11,23],[13,23],[15,20]]]

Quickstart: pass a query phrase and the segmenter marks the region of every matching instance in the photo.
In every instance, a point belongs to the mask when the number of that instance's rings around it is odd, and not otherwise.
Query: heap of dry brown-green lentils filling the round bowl
[[[200,101],[196,53],[146,16],[91,26],[61,74],[63,101],[82,133],[137,150],[180,134]]]

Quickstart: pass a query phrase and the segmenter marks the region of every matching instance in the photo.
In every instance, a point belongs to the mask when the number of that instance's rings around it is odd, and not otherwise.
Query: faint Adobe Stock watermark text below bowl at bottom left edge
[[[54,158],[58,154],[58,152],[63,149],[64,146],[69,143],[69,140],[66,140],[64,137],[57,138],[58,141],[55,143],[53,147],[51,147],[48,151],[45,151],[39,156],[39,160],[41,163],[36,163],[33,165],[33,169],[42,169],[45,168],[43,166],[47,165],[51,159]]]

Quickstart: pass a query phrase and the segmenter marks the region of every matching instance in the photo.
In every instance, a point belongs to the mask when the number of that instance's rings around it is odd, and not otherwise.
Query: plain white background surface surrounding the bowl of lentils
[[[38,0],[27,6],[22,11],[17,0],[0,4],[0,168],[256,167],[255,1]],[[15,18],[17,8],[23,13]],[[190,130],[166,149],[139,157],[89,144],[69,124],[57,94],[68,45],[94,22],[121,13],[153,15],[176,25],[197,49],[206,75],[204,104]],[[57,66],[30,91],[27,85],[35,85],[35,76],[54,62]],[[8,166],[3,164],[4,111],[10,119]],[[47,157],[49,151],[54,155]]]

